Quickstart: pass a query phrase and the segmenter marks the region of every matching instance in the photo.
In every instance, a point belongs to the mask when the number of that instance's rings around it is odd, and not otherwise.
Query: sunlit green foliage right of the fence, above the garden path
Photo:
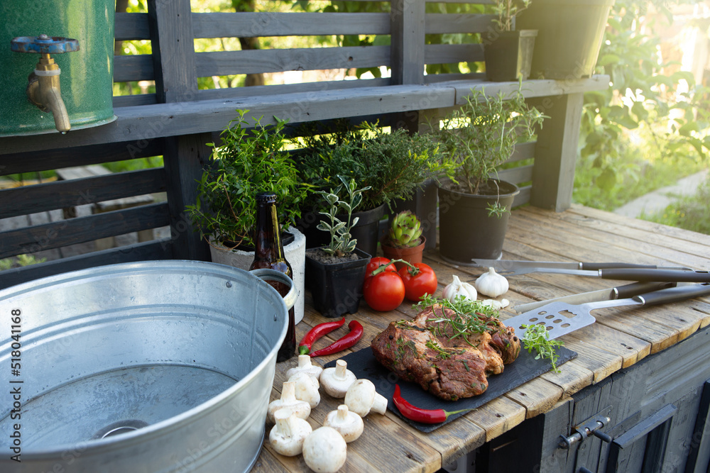
[[[660,62],[661,38],[652,33],[682,3],[692,2],[616,0],[597,63],[611,87],[584,97],[574,185],[580,204],[613,210],[707,167],[709,91],[677,64]],[[651,8],[662,16],[650,17]]]

